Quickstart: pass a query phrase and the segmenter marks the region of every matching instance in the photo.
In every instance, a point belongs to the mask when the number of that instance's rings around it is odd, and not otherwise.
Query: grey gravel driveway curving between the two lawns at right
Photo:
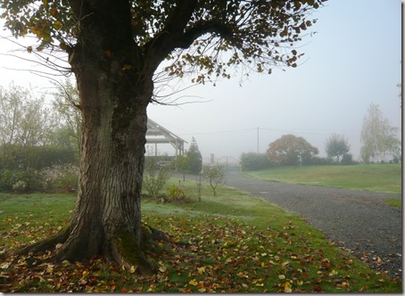
[[[304,218],[336,245],[392,277],[402,276],[402,214],[384,203],[401,194],[293,185],[227,173],[227,184]]]

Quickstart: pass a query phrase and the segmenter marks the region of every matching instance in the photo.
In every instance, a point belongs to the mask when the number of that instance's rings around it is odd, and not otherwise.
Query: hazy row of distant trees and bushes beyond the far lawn
[[[361,130],[360,160],[362,163],[384,163],[401,161],[401,140],[398,128],[391,127],[378,106],[371,104],[363,120]],[[301,136],[284,135],[269,144],[266,153],[242,153],[243,170],[269,169],[278,166],[305,165],[351,165],[350,144],[343,135],[332,134],[326,140],[326,158],[318,157],[318,148]]]

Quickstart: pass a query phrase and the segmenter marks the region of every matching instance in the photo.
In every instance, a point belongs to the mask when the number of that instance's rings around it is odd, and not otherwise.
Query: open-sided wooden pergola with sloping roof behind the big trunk
[[[154,153],[157,156],[158,144],[171,144],[176,150],[176,156],[183,155],[185,152],[185,140],[176,136],[168,129],[161,127],[152,119],[148,119],[146,131],[146,144],[154,144]]]

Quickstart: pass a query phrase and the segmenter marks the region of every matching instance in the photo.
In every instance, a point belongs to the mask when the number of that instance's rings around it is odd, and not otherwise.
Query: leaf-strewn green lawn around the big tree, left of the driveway
[[[193,202],[142,201],[144,223],[170,238],[150,254],[155,274],[102,258],[29,269],[26,257],[9,256],[0,260],[0,292],[401,292],[400,281],[268,201],[226,186],[214,197],[204,184],[198,202],[193,181],[172,184]],[[57,232],[74,201],[69,194],[0,193],[0,252]]]

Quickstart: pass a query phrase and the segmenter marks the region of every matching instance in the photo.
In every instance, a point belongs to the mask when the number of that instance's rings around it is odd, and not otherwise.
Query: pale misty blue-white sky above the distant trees
[[[305,38],[298,68],[252,73],[242,86],[238,77],[217,86],[194,86],[179,94],[188,96],[181,102],[198,96],[206,103],[150,105],[149,117],[188,143],[194,136],[204,160],[211,153],[232,160],[242,152],[265,152],[269,143],[286,134],[304,137],[325,156],[332,133],[346,136],[358,159],[370,103],[379,105],[391,125],[401,129],[401,1],[330,0],[315,17],[318,22],[310,30],[318,33]],[[5,53],[3,45],[0,53]],[[0,55],[0,64],[4,87],[14,81],[44,92],[49,86],[45,78],[7,70],[18,68],[17,59]],[[174,149],[162,146],[161,152],[173,154]]]

